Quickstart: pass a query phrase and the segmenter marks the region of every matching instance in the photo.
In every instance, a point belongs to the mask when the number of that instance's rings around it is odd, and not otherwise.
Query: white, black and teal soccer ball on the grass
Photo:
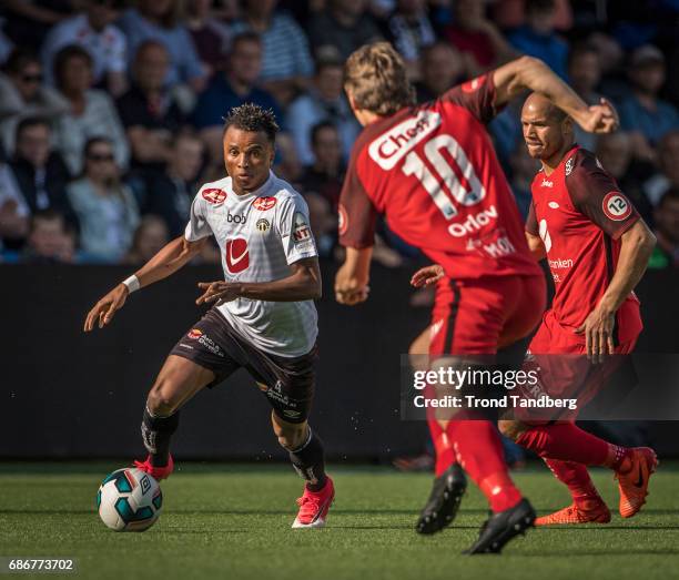
[[[158,481],[129,467],[109,475],[97,492],[99,517],[115,531],[144,531],[161,513],[163,495]]]

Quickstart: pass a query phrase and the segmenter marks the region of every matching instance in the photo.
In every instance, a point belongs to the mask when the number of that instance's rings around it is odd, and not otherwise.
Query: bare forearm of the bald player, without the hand
[[[638,220],[622,234],[616,273],[601,297],[601,308],[611,313],[618,311],[643,276],[655,246],[656,236],[643,220]]]

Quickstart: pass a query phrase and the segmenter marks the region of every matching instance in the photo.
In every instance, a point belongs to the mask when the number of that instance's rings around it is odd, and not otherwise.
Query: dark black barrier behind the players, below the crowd
[[[312,423],[331,456],[387,458],[418,452],[426,425],[398,417],[399,355],[428,324],[408,305],[409,269],[376,267],[369,301],[334,302],[334,265],[323,268],[318,302],[318,384]],[[188,267],[134,294],[104,330],[82,333],[85,313],[129,275],[113,266],[0,267],[0,458],[142,455],[145,394],[164,357],[201,316],[196,283],[215,267]],[[647,274],[638,289],[646,332],[639,348],[679,353],[679,275]],[[678,386],[679,387],[679,386]],[[652,426],[659,450],[679,455],[679,424]],[[183,458],[281,456],[268,406],[244,372],[183,410],[174,446]]]

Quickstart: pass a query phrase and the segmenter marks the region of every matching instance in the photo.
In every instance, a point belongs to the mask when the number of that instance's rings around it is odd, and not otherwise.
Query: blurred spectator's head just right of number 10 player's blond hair
[[[418,103],[440,96],[465,78],[462,54],[444,41],[437,41],[422,51],[420,69],[422,79],[415,83]]]

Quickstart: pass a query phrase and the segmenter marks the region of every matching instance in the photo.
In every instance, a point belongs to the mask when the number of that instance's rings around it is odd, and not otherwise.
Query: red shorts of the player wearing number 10
[[[545,278],[439,281],[429,355],[489,355],[528,336],[546,306]]]

